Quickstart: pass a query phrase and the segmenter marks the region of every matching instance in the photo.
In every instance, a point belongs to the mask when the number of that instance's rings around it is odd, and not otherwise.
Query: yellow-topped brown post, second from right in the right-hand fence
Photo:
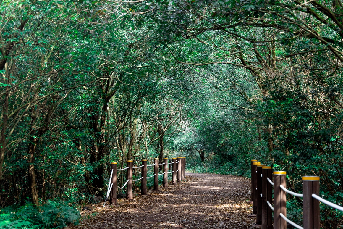
[[[286,192],[280,188],[282,184],[286,188],[286,172],[274,171],[274,229],[286,229],[287,222],[281,218],[280,213],[286,215]]]

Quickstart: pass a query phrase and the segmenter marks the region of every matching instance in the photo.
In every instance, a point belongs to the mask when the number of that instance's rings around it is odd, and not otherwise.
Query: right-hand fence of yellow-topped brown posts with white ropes
[[[303,198],[303,227],[287,218],[286,193]],[[256,217],[255,226],[262,229],[286,229],[287,223],[298,229],[319,229],[319,202],[343,211],[342,206],[319,196],[319,176],[303,176],[303,193],[295,193],[286,188],[285,171],[272,171],[257,160],[251,160],[251,200],[250,216]]]

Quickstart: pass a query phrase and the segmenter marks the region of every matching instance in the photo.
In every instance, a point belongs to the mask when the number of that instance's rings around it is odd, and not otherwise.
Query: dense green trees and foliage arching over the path
[[[0,2],[1,208],[82,205],[111,161],[172,156],[243,176],[259,159],[293,192],[318,175],[343,204],[340,0]]]

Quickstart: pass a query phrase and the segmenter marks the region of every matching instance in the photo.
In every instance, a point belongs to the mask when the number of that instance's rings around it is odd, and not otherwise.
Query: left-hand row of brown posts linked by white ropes
[[[178,161],[177,161],[178,160]],[[181,162],[181,163],[178,163]],[[176,185],[177,183],[181,182],[186,177],[186,157],[178,157],[178,158],[170,158],[168,162],[168,158],[163,158],[163,163],[158,163],[158,158],[154,159],[154,164],[147,165],[147,160],[142,160],[142,165],[139,167],[133,167],[133,161],[128,160],[127,167],[123,169],[117,169],[117,162],[111,162],[111,174],[110,179],[108,183],[107,193],[106,193],[106,199],[104,206],[106,204],[107,198],[109,197],[109,202],[111,205],[117,204],[117,189],[122,190],[126,187],[126,198],[127,199],[133,199],[133,182],[134,181],[141,181],[141,194],[146,195],[146,179],[147,178],[153,178],[154,179],[154,185],[153,190],[158,191],[159,190],[159,176],[163,175],[163,187],[168,186],[168,173],[171,173],[171,184]],[[158,173],[158,167],[159,165],[163,165],[163,173]],[[168,168],[169,165],[169,168]],[[153,167],[153,174],[152,176],[147,176],[147,168]],[[132,170],[133,169],[140,169],[142,171],[141,178],[137,180],[133,180],[132,177]],[[124,171],[126,170],[126,179],[127,181],[122,187],[119,187],[117,185],[117,171]],[[171,170],[168,172],[168,170]],[[157,175],[157,176],[156,176]],[[115,188],[112,188],[112,187]]]

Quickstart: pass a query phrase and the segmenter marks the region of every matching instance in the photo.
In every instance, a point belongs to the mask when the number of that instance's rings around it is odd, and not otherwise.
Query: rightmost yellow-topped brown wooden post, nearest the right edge
[[[319,176],[303,176],[304,228],[319,229],[319,201],[312,194],[319,195]]]

